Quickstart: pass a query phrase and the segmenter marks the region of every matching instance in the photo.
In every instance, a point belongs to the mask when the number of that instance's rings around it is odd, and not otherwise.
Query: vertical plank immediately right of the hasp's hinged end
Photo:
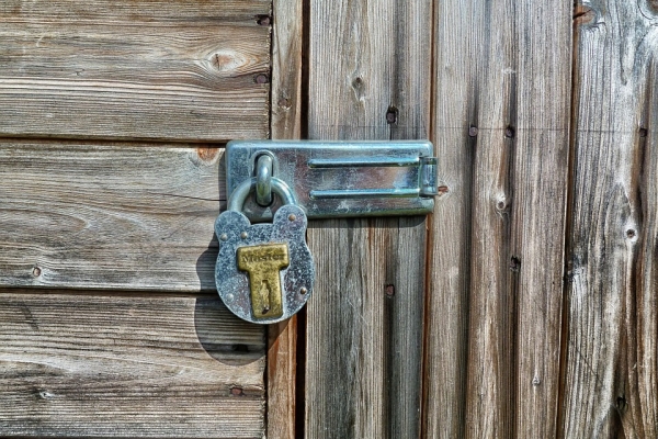
[[[468,295],[473,149],[467,137],[476,92],[477,46],[465,56],[477,3],[439,2],[434,8],[432,142],[439,195],[430,216],[426,328],[427,380],[423,432],[427,438],[464,438],[468,351]],[[468,23],[468,25],[465,25]],[[467,61],[467,59],[469,59]]]

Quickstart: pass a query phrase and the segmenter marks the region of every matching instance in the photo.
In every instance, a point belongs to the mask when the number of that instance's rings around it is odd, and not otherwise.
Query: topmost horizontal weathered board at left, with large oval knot
[[[0,135],[266,137],[269,13],[264,0],[3,1]]]

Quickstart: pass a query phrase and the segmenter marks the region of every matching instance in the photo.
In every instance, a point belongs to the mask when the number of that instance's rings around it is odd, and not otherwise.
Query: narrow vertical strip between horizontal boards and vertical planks
[[[302,130],[303,2],[274,0],[272,27],[272,138]],[[268,328],[268,438],[295,438],[297,316]]]

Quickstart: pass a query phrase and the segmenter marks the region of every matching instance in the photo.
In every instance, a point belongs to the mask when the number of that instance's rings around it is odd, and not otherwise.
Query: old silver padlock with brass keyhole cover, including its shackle
[[[257,179],[242,182],[215,222],[219,296],[245,320],[271,324],[297,313],[313,293],[315,268],[306,245],[307,218],[285,182],[271,178],[284,205],[272,223],[251,224],[240,210]]]

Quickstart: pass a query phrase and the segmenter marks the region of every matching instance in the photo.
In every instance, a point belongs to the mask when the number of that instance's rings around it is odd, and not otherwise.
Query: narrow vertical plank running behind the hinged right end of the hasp
[[[396,1],[394,82],[392,108],[396,113],[392,139],[428,138],[430,134],[431,26],[429,1]],[[394,222],[395,224],[395,222]],[[427,275],[427,222],[399,217],[397,241],[386,272],[386,301],[392,302],[386,333],[389,354],[387,391],[388,437],[419,437],[422,405],[422,350]],[[390,288],[393,286],[393,291]],[[393,294],[393,295],[392,295]]]

